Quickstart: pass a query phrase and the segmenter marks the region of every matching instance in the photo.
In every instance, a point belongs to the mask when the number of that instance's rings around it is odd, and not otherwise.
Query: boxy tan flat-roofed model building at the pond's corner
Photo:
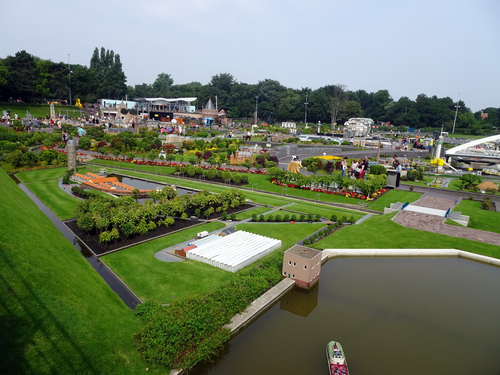
[[[298,285],[309,287],[318,278],[321,269],[321,251],[294,245],[283,254],[282,276],[292,278]]]

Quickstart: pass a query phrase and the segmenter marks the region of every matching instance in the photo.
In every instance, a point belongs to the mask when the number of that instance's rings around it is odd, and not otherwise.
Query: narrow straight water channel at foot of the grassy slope
[[[66,239],[73,244],[73,246],[85,257],[85,259],[88,260],[97,273],[104,279],[109,287],[116,294],[118,294],[128,307],[134,309],[137,304],[142,303],[132,290],[130,290],[130,288],[106,264],[97,258],[97,256],[95,256],[92,251],[90,251],[35,194],[24,186],[24,183],[19,183],[17,177],[13,179],[16,181],[21,190],[24,191],[34,204],[36,204],[36,206],[41,209],[50,221],[52,221],[62,235],[64,235],[64,237],[66,237]]]

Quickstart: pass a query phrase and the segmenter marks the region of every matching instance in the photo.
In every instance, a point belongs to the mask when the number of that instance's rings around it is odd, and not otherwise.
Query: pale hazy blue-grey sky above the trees
[[[4,1],[0,57],[25,49],[89,64],[95,47],[120,54],[127,84],[231,73],[312,89],[388,89],[500,106],[498,0]]]

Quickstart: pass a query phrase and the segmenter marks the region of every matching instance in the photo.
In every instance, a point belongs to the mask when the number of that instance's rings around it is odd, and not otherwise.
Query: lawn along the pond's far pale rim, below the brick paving
[[[348,225],[314,243],[316,248],[456,248],[500,257],[500,246],[406,228],[391,221],[395,213],[371,216]],[[365,235],[359,235],[364,233]]]

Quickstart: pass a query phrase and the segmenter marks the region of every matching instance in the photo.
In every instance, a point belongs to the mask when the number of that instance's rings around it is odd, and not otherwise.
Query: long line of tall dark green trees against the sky
[[[368,117],[396,126],[415,128],[452,128],[456,105],[455,129],[464,134],[480,134],[498,127],[500,110],[494,107],[472,113],[463,100],[439,98],[424,93],[415,99],[402,96],[394,100],[389,91],[348,90],[344,84],[327,84],[317,89],[290,88],[266,78],[255,84],[238,82],[227,72],[211,76],[206,84],[190,82],[174,84],[170,74],[161,72],[152,83],[126,85],[119,54],[96,47],[89,66],[43,60],[25,50],[0,59],[0,100],[20,98],[27,102],[69,99],[69,68],[73,98],[95,103],[97,98],[124,99],[134,97],[196,97],[193,105],[201,109],[217,97],[218,109],[230,118],[257,117],[265,122],[295,121],[343,124],[351,117]],[[257,99],[258,96],[258,99]],[[307,102],[307,104],[305,104]]]

